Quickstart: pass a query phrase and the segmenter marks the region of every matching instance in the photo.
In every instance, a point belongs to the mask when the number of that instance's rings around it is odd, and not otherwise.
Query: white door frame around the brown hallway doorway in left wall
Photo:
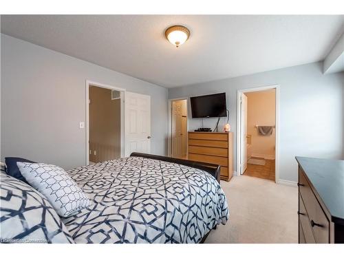
[[[125,156],[125,89],[103,83],[96,83],[92,80],[86,80],[86,165],[89,165],[89,86],[92,85],[105,89],[114,89],[120,92],[120,158]]]

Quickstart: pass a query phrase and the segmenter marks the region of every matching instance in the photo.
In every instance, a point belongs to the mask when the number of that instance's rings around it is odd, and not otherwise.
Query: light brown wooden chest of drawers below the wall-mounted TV
[[[233,133],[189,131],[188,160],[218,164],[221,179],[233,177]]]

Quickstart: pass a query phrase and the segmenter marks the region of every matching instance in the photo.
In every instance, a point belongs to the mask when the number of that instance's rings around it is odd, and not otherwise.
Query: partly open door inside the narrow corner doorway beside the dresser
[[[172,157],[182,158],[182,105],[172,101]]]

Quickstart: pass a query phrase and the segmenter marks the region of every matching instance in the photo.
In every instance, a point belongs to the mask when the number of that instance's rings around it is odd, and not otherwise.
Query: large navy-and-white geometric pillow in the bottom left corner
[[[50,202],[32,186],[0,175],[2,243],[74,243]]]

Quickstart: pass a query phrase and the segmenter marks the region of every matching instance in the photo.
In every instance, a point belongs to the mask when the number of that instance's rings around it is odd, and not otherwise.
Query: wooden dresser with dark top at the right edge
[[[344,243],[344,161],[297,157],[299,243]]]

